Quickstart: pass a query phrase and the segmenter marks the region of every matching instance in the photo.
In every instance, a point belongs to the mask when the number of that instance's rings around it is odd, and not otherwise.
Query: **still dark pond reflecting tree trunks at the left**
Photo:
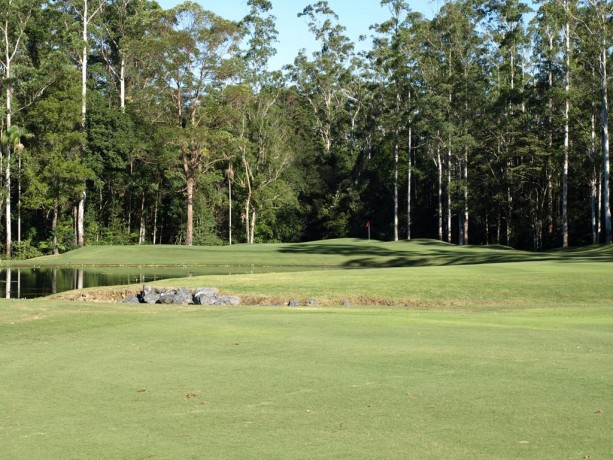
[[[0,296],[33,299],[87,287],[144,284],[151,281],[201,275],[226,275],[265,271],[261,267],[190,268],[11,268],[0,270]]]

